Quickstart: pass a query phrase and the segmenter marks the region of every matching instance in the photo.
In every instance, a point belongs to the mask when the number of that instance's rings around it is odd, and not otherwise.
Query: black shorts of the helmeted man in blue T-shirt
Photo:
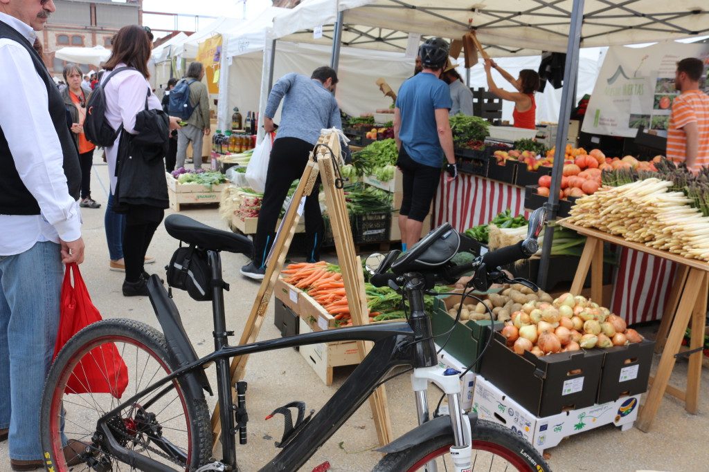
[[[414,161],[403,145],[396,166],[403,174],[403,200],[399,213],[409,219],[423,221],[430,213],[431,202],[441,180],[441,168]]]

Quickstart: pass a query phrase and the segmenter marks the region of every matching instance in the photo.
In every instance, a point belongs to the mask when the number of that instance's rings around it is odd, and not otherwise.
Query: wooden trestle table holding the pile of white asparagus
[[[675,355],[680,350],[682,338],[689,323],[691,323],[692,330],[689,350],[696,350],[703,345],[707,294],[709,292],[709,264],[650,248],[644,244],[625,241],[619,236],[613,236],[596,229],[567,224],[563,220],[559,224],[573,229],[582,236],[586,236],[586,246],[584,246],[584,252],[581,254],[579,269],[576,271],[574,282],[571,284],[571,293],[581,293],[590,268],[591,299],[599,305],[603,305],[603,241],[679,264],[679,270],[676,273],[667,305],[662,314],[659,332],[657,333],[655,352],[661,351],[662,356],[657,366],[657,373],[654,378],[650,378],[652,385],[635,425],[641,431],[649,431],[664,393],[669,393],[669,395],[683,401],[685,403],[684,408],[688,413],[697,413],[702,374],[701,350],[688,355],[689,368],[686,391],[667,383],[676,362]]]

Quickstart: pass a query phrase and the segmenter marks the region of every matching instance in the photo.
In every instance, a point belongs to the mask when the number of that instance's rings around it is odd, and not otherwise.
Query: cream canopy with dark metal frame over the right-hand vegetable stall
[[[696,0],[586,0],[581,47],[628,45],[709,33],[709,11]],[[313,39],[344,12],[342,43],[406,50],[408,33],[460,38],[471,28],[493,57],[566,52],[572,0],[303,0],[274,20],[274,38]],[[381,29],[380,29],[381,28]],[[403,32],[403,33],[402,33]],[[329,37],[329,38],[328,38]]]

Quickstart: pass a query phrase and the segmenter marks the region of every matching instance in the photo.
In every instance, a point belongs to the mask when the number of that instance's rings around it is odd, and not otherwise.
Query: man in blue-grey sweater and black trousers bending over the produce
[[[340,108],[333,95],[337,73],[330,67],[318,67],[313,75],[286,74],[273,86],[264,113],[264,129],[274,130],[273,117],[281,100],[281,123],[278,128],[269,160],[264,197],[259,211],[259,221],[254,238],[252,262],[241,267],[241,274],[262,280],[266,273],[268,257],[276,224],[288,189],[305,171],[308,156],[320,138],[320,129],[342,129]],[[323,214],[320,212],[318,194],[320,178],[315,190],[306,198],[306,236],[308,262],[320,260],[323,241]]]

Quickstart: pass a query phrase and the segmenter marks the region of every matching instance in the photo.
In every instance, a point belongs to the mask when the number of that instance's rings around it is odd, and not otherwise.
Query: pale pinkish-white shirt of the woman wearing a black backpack
[[[125,64],[118,64],[119,67],[125,67]],[[113,70],[116,70],[113,69]],[[108,79],[108,76],[113,71],[105,71],[101,77],[101,84]],[[150,83],[138,71],[121,71],[118,72],[104,88],[106,93],[106,120],[113,127],[118,129],[123,123],[123,129],[130,134],[135,132],[135,115],[145,110],[145,98],[147,91],[150,90]],[[160,100],[155,96],[155,93],[150,93],[150,98],[147,100],[147,108],[149,110],[162,110]],[[113,146],[106,148],[106,162],[108,163],[108,175],[111,178],[111,193],[116,192],[116,158],[118,157],[118,141],[121,139],[119,134]]]

